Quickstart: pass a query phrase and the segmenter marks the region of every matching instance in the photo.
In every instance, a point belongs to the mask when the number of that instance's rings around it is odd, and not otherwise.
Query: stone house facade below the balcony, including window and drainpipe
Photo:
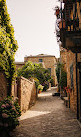
[[[70,87],[68,107],[76,113],[81,121],[81,53],[73,53],[71,50],[60,52],[61,62],[64,62],[67,72],[67,87]],[[63,58],[65,57],[65,58]]]

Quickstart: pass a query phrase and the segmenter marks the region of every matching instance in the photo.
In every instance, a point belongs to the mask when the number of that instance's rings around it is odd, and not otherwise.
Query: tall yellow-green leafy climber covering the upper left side
[[[0,0],[0,69],[4,70],[8,79],[8,95],[11,94],[11,84],[15,76],[14,56],[17,48],[6,0]]]

